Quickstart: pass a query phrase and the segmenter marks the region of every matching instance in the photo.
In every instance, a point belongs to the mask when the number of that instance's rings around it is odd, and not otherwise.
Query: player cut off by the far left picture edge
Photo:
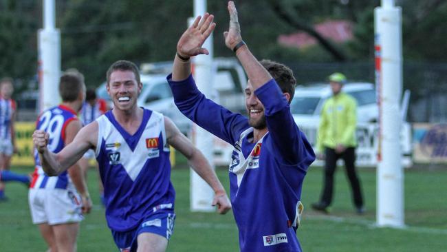
[[[15,144],[14,122],[16,120],[16,102],[12,100],[12,78],[0,80],[0,171],[10,169],[12,154],[17,152]],[[0,182],[0,200],[6,200],[5,185]]]

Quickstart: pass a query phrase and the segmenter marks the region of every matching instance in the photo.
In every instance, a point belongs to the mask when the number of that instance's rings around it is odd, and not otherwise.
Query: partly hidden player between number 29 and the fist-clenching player
[[[80,120],[82,121],[83,125],[87,125],[96,118],[102,116],[102,114],[105,114],[110,110],[109,105],[107,105],[107,102],[102,98],[96,97],[96,92],[94,89],[87,89],[85,92],[85,102],[83,104],[83,108],[80,110]],[[87,169],[89,168],[89,160],[95,159],[95,151],[93,149],[89,149],[79,160],[81,167],[83,168],[84,175],[87,178]],[[98,162],[94,160],[95,167],[98,168]],[[102,182],[100,179],[98,179],[99,184],[99,191],[100,191],[100,198],[102,204],[105,204],[104,202],[104,187],[102,186]]]

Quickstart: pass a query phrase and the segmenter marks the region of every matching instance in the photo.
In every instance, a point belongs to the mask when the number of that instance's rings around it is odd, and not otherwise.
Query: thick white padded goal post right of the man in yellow
[[[377,224],[404,227],[402,116],[402,13],[393,0],[375,8],[375,72],[379,103]]]

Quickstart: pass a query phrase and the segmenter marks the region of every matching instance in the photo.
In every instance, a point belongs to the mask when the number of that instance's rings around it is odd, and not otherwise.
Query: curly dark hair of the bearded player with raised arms
[[[292,102],[295,94],[296,78],[294,77],[294,72],[281,63],[270,61],[269,59],[263,59],[259,61],[261,65],[270,73],[274,78],[276,83],[278,83],[279,88],[283,93],[290,94],[289,103]]]

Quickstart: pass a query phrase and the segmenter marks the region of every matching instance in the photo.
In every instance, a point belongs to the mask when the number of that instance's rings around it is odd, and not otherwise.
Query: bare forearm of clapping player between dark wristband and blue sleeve
[[[254,90],[257,90],[261,85],[264,85],[272,76],[254,57],[247,45],[243,45],[236,51],[237,59],[241,62],[243,69],[246,71],[250,83],[252,83]]]

